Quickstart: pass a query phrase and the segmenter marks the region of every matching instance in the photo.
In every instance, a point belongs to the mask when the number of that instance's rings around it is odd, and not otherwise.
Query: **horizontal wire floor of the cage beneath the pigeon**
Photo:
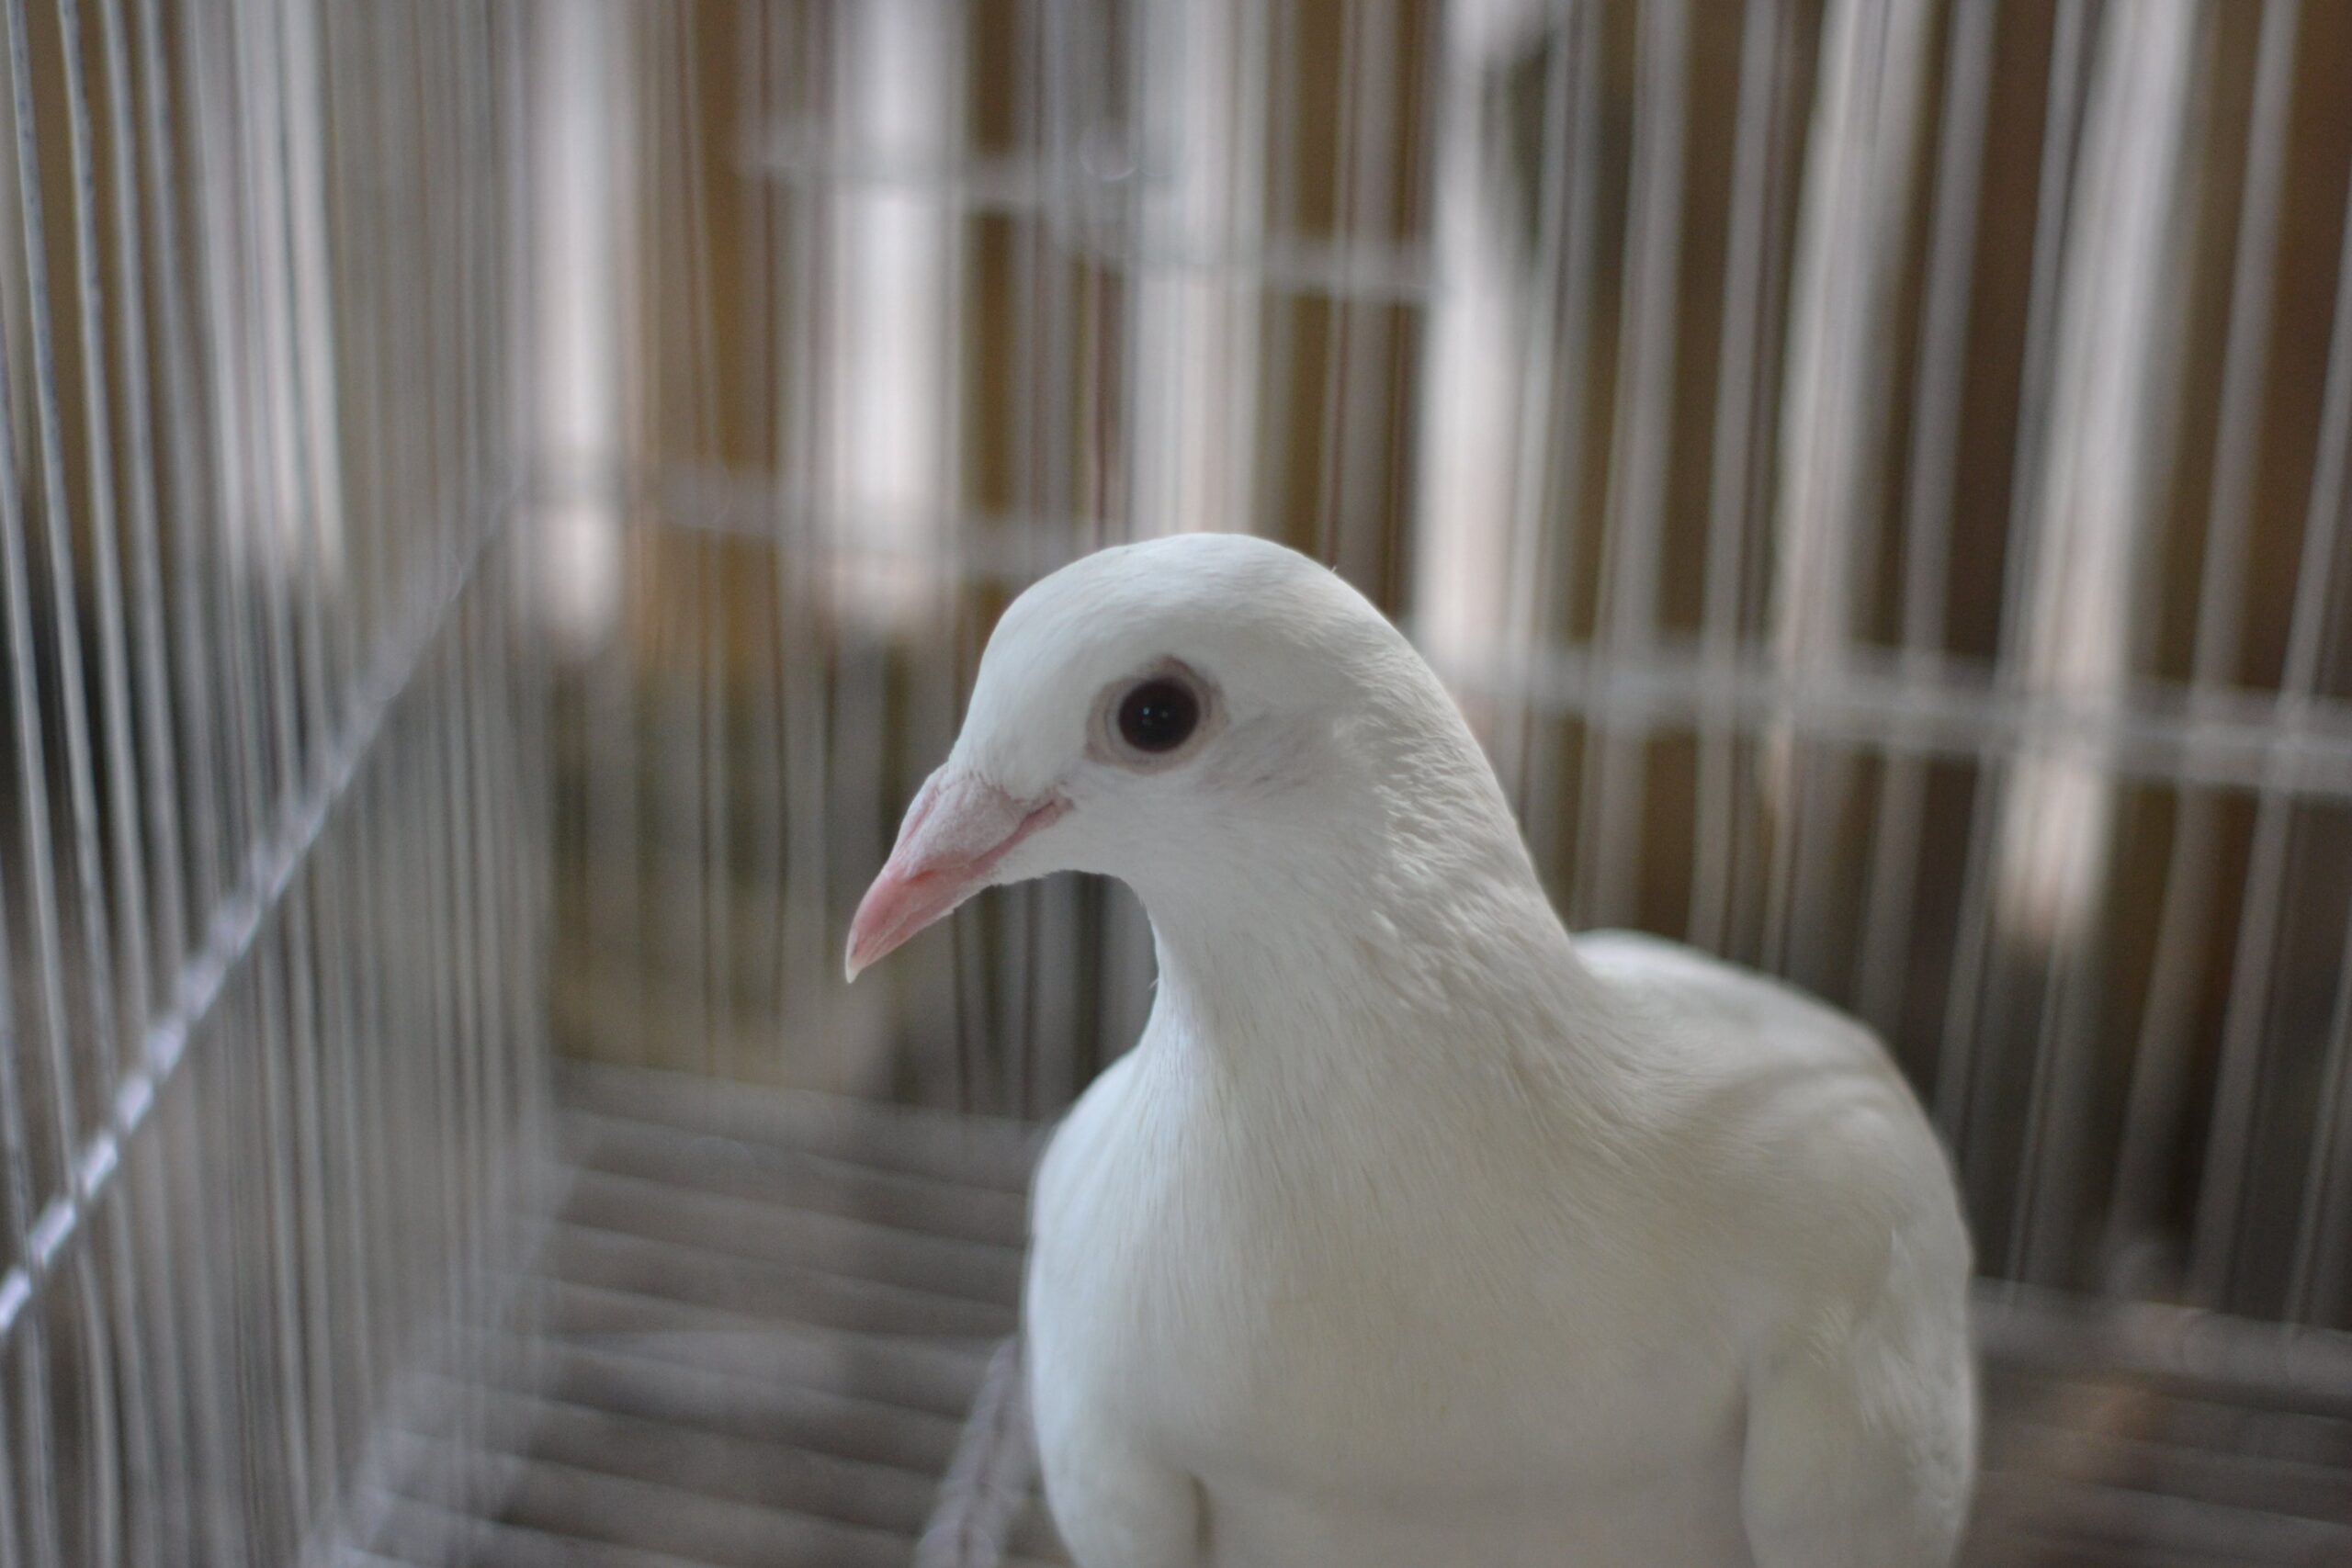
[[[1014,1326],[1030,1133],[612,1070],[560,1126],[513,1319],[395,1422],[353,1561],[903,1568]],[[1969,1568],[2352,1563],[2352,1385],[1992,1319]],[[1035,1505],[1014,1552],[1065,1561]]]

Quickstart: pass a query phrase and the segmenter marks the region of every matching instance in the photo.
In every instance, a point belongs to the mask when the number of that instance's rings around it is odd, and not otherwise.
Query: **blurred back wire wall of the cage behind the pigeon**
[[[2352,1321],[2333,9],[597,47],[635,324],[576,520],[581,1048],[1061,1105],[1138,1018],[1122,896],[1016,893],[866,1001],[849,884],[1007,592],[1247,527],[1409,618],[1576,924],[1879,1025],[1994,1274]]]

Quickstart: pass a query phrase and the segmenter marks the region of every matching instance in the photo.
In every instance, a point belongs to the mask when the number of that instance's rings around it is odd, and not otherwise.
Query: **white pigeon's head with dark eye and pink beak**
[[[1454,806],[1449,783],[1468,790]],[[1120,877],[1155,924],[1230,907],[1395,839],[1399,802],[1421,827],[1508,830],[1444,689],[1343,578],[1242,534],[1101,550],[1004,611],[964,729],[858,905],[847,971],[983,886],[1058,870]]]

